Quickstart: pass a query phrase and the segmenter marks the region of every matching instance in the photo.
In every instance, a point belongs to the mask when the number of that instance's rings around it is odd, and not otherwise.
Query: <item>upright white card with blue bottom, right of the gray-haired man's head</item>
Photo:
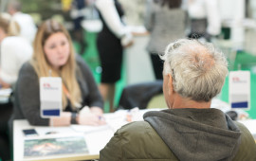
[[[231,71],[229,73],[229,103],[234,109],[250,108],[250,72]]]

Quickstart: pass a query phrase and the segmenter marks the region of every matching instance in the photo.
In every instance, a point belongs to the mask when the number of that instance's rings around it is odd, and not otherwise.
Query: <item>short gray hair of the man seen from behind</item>
[[[180,39],[160,57],[165,61],[163,73],[172,75],[174,91],[183,98],[210,101],[229,73],[226,57],[210,43]]]

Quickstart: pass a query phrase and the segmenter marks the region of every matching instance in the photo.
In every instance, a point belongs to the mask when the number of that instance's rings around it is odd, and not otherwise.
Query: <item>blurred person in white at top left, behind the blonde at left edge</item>
[[[19,1],[10,0],[8,4],[8,12],[12,16],[12,19],[16,21],[20,26],[20,36],[27,39],[27,41],[32,44],[37,27],[34,24],[32,17],[23,13],[22,5]]]

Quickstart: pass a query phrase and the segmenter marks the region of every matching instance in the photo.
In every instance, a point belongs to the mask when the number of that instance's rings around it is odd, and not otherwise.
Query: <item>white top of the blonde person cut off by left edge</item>
[[[22,64],[31,58],[32,46],[22,37],[10,36],[2,41],[0,49],[0,79],[13,84]]]

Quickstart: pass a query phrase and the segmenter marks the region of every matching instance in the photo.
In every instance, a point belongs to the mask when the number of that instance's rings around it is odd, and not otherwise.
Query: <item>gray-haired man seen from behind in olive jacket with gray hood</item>
[[[211,98],[228,75],[223,53],[211,44],[181,39],[167,46],[163,91],[168,110],[119,129],[100,160],[256,160],[252,135],[218,109]]]

